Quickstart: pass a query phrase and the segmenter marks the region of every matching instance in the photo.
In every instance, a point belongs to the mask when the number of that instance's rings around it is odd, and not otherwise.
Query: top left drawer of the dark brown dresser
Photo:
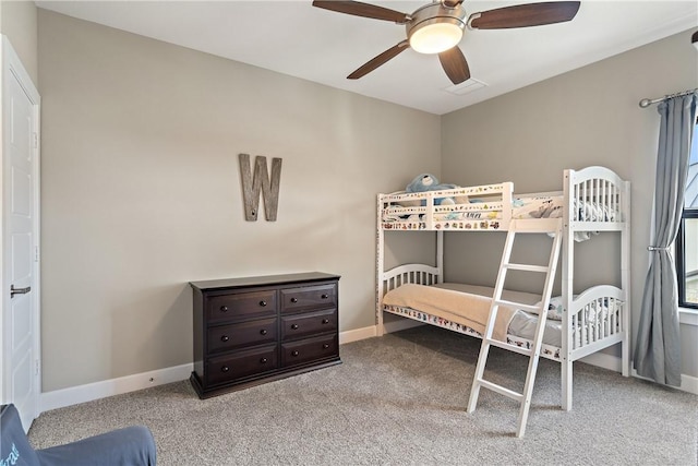
[[[208,322],[276,313],[276,290],[236,292],[208,298]]]

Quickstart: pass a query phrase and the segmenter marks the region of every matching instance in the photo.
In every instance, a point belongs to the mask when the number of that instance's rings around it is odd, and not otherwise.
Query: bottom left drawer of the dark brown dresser
[[[230,382],[278,368],[277,346],[265,346],[212,358],[206,365],[207,383]]]

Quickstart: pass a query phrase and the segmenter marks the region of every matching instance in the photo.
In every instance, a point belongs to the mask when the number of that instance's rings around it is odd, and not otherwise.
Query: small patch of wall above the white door
[[[34,85],[38,82],[37,9],[33,1],[0,1],[0,34],[12,44]]]

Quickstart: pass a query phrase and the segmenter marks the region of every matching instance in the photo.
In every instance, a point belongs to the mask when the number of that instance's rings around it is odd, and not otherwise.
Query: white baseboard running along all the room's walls
[[[385,332],[399,332],[401,330],[411,328],[419,325],[425,324],[411,319],[402,319],[386,323]],[[377,328],[375,325],[341,332],[339,334],[339,344],[344,345],[346,343],[372,338],[376,335]],[[621,372],[621,358],[606,355],[604,353],[595,353],[580,360],[604,369]],[[41,393],[40,413],[63,408],[65,406],[77,405],[80,403],[92,402],[94,399],[106,398],[113,395],[120,395],[123,393],[134,392],[136,390],[164,385],[166,383],[179,382],[189,379],[193,369],[194,365],[188,363]],[[637,374],[635,370],[633,370],[633,377],[642,379]],[[698,395],[698,378],[682,374],[682,384],[678,390]]]

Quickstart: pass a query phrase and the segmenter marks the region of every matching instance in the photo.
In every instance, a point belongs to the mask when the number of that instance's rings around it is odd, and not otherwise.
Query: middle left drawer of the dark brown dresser
[[[209,354],[276,342],[276,318],[209,327],[206,336]]]

